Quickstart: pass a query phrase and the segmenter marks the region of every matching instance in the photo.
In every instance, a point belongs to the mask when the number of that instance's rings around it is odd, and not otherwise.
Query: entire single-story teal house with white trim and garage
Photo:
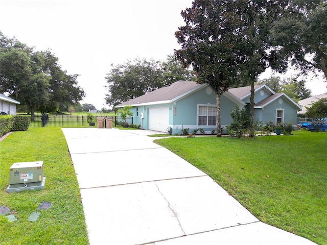
[[[238,88],[240,89],[240,88]],[[221,125],[223,133],[231,122],[235,105],[248,107],[249,87],[229,89],[221,96]],[[255,89],[255,120],[264,122],[291,121],[296,124],[296,111],[301,108],[284,93],[275,94],[266,85]],[[203,129],[206,134],[217,130],[215,92],[207,84],[177,81],[116,106],[132,106],[133,124],[141,129],[181,134],[183,129]],[[216,132],[215,132],[216,133]]]

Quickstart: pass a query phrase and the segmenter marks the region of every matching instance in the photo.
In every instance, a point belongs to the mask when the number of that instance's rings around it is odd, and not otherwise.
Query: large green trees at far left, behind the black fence
[[[1,93],[27,106],[32,114],[67,110],[82,100],[84,90],[78,86],[78,75],[62,70],[51,51],[34,48],[0,32]]]

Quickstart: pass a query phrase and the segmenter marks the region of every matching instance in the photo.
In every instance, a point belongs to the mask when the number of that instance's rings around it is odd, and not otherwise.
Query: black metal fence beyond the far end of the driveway
[[[88,120],[89,118],[86,115],[33,115],[31,116],[30,127],[97,127],[97,117],[98,116],[92,116],[92,119]],[[125,122],[120,116],[110,118],[113,118],[115,127],[123,127]],[[105,122],[106,120],[104,120],[104,123]],[[126,124],[133,124],[133,117],[127,117]]]

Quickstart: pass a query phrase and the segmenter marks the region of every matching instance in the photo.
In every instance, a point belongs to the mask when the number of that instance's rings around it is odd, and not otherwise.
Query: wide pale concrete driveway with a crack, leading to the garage
[[[148,130],[62,129],[91,245],[315,244],[263,224]]]

